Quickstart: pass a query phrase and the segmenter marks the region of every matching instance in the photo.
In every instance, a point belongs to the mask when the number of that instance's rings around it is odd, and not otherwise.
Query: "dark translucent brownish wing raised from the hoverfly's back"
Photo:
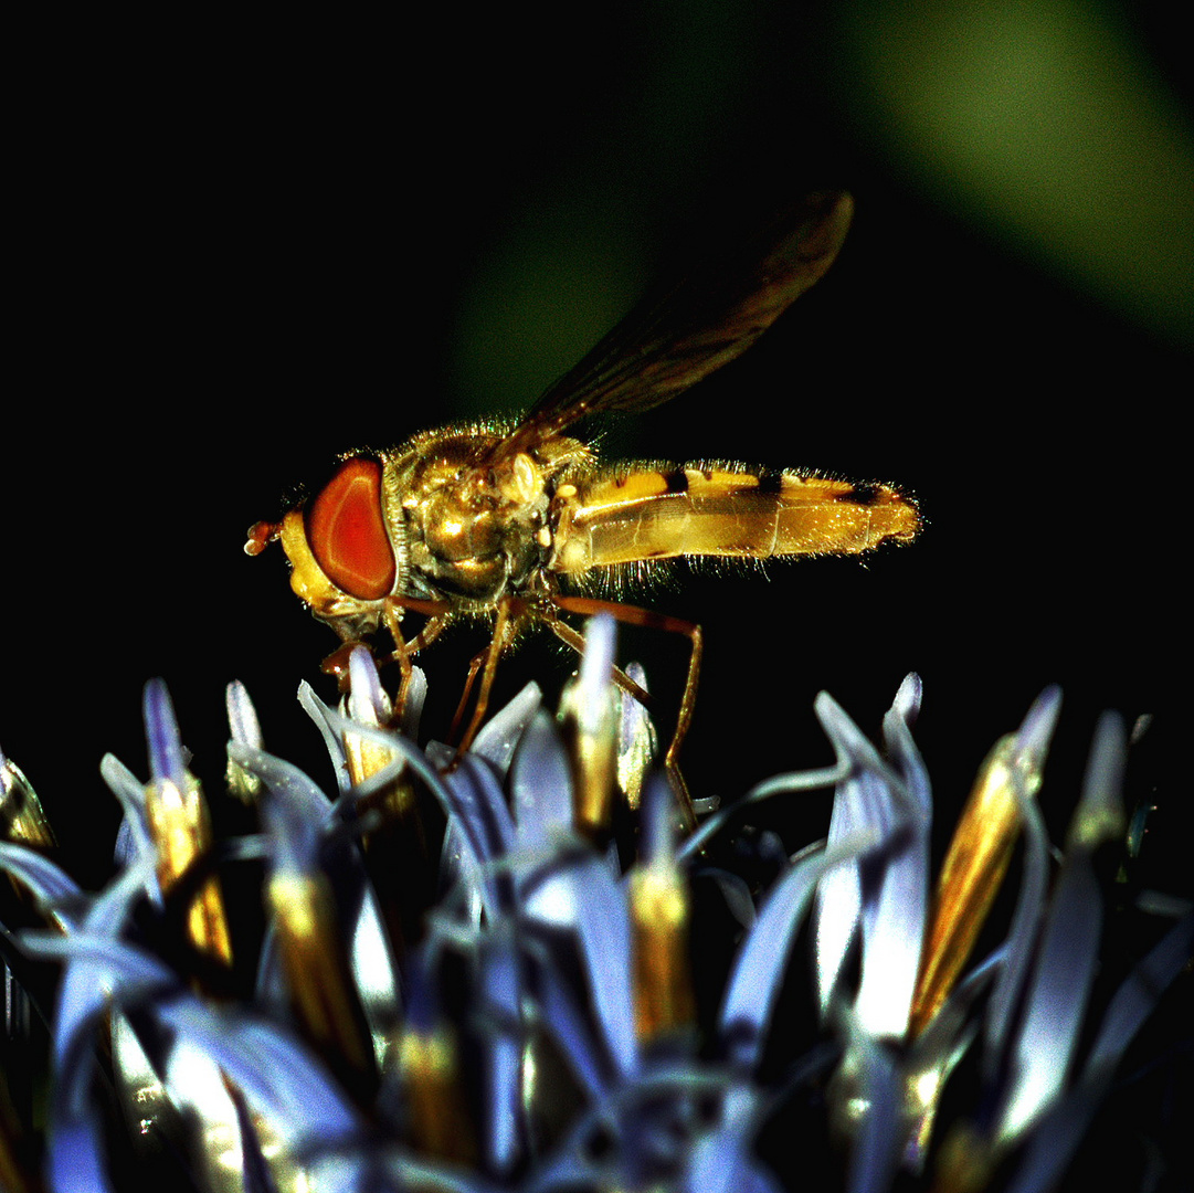
[[[589,414],[650,410],[745,352],[829,269],[853,213],[844,192],[811,195],[745,267],[708,266],[644,302],[548,388],[499,454]]]

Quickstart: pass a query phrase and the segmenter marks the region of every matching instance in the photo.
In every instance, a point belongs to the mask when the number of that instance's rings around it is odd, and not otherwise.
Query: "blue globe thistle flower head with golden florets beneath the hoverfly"
[[[416,744],[421,672],[395,718],[370,657],[350,668],[338,708],[300,697],[332,793],[266,752],[230,687],[227,787],[257,818],[233,840],[152,682],[149,781],[103,765],[124,825],[98,893],[47,831],[18,831],[36,797],[0,762],[0,866],[23,892],[4,908],[10,1093],[36,1037],[13,1007],[51,1022],[44,1136],[24,1094],[0,1114],[6,1189],[118,1189],[152,1166],[246,1193],[770,1193],[826,1158],[851,1193],[1048,1189],[1189,963],[1194,914],[1171,902],[1091,1021],[1094,857],[1122,836],[1126,740],[1104,718],[1054,863],[1035,797],[1057,691],[981,767],[934,884],[915,676],[882,752],[823,694],[835,764],[697,801],[688,832],[650,720],[611,683],[608,619],[559,718],[530,687],[463,755]],[[818,789],[824,841],[789,857],[746,831],[763,800]],[[975,957],[1004,881],[1005,936]],[[242,955],[229,921],[251,898],[264,929]],[[795,1025],[794,984],[812,1011]]]

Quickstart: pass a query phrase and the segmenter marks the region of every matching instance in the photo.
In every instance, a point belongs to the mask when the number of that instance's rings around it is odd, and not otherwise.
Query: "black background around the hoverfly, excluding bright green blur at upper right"
[[[1168,18],[1115,12],[1188,130]],[[1098,712],[1151,712],[1133,791],[1156,789],[1153,856],[1168,840],[1176,857],[1189,295],[1174,324],[1125,314],[980,199],[955,202],[886,137],[839,18],[614,5],[567,27],[453,11],[31,36],[10,183],[0,744],[80,874],[105,873],[117,820],[100,756],[144,771],[148,676],[168,682],[210,785],[234,677],[267,746],[327,780],[294,693],[319,684],[334,639],[277,548],[241,552],[287,486],[337,450],[529,405],[657,272],[823,186],[857,201],[830,275],[609,445],[898,481],[928,525],[864,562],[646,598],[706,627],[695,793],[829,761],[823,688],[876,734],[917,670],[943,832],[996,738],[1057,682],[1054,835]],[[1175,211],[1180,233],[1190,213]],[[478,645],[427,656],[443,702]],[[626,650],[678,693],[681,645]],[[566,670],[531,644],[503,690]],[[1188,881],[1173,859],[1158,873]]]

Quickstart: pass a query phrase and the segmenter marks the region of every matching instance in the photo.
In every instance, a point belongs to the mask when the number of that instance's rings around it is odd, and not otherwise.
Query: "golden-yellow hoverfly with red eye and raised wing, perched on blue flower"
[[[691,718],[701,659],[698,626],[645,609],[570,595],[618,568],[676,556],[770,559],[868,551],[906,542],[919,518],[890,485],[741,465],[603,465],[562,433],[580,419],[642,411],[670,400],[744,352],[829,267],[845,236],[853,201],[805,199],[745,271],[707,271],[647,303],[602,339],[512,425],[449,426],[398,448],[340,457],[332,479],[278,523],[258,522],[245,551],[275,539],[291,564],[290,585],[345,644],[381,625],[402,669],[462,617],[493,622],[488,648],[469,671],[461,719],[478,672],[476,703],[462,748],[484,717],[497,660],[527,625],[546,623],[573,648],[580,635],[561,613],[609,609],[635,625],[691,642],[669,773]],[[794,230],[793,230],[794,227]],[[411,640],[406,610],[426,622]],[[336,670],[344,648],[325,660]],[[640,699],[624,675],[617,682]]]

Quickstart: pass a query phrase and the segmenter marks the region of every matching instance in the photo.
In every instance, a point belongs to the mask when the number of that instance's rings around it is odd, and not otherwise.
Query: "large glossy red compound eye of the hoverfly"
[[[324,574],[358,601],[394,588],[394,552],[381,512],[381,465],[355,459],[328,481],[307,511],[307,541]]]

